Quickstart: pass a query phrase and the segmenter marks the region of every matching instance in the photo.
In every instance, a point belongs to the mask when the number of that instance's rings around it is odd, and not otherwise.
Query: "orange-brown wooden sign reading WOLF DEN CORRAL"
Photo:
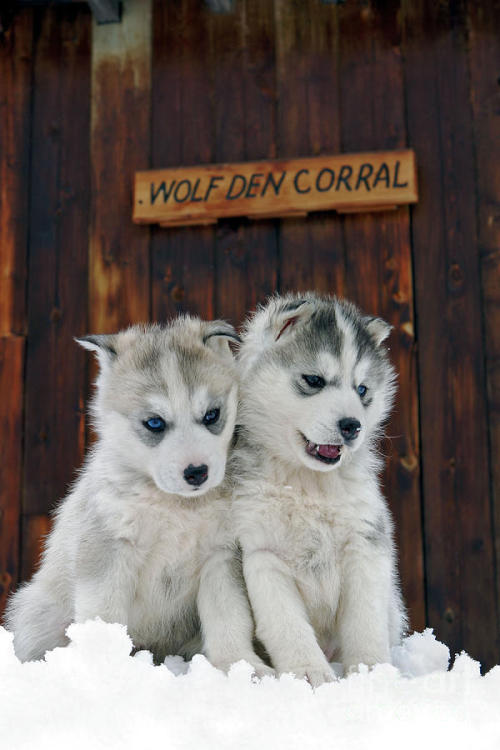
[[[139,224],[214,224],[229,216],[380,211],[418,199],[413,151],[174,167],[135,176]]]

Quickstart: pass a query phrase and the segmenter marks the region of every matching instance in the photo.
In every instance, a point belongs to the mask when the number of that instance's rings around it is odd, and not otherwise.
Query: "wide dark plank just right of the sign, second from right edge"
[[[452,653],[498,660],[473,132],[463,6],[403,3],[429,624]]]

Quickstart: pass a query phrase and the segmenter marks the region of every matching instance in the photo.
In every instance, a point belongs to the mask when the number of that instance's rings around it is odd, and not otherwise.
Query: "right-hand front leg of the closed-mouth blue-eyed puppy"
[[[254,623],[234,550],[219,549],[204,564],[198,613],[204,652],[218,669],[244,659],[259,677],[273,674],[253,650]]]

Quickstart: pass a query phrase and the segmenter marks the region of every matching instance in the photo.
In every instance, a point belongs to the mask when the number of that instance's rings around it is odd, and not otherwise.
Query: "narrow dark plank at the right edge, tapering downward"
[[[500,3],[470,0],[469,61],[500,622]],[[497,33],[493,33],[496,29]],[[498,641],[497,641],[498,644]],[[497,645],[500,653],[500,644]]]

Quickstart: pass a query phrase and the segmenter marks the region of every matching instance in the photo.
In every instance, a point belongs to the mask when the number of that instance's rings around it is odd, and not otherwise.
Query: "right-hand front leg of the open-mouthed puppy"
[[[338,630],[346,672],[390,662],[389,603],[392,551],[363,538],[344,550]]]

